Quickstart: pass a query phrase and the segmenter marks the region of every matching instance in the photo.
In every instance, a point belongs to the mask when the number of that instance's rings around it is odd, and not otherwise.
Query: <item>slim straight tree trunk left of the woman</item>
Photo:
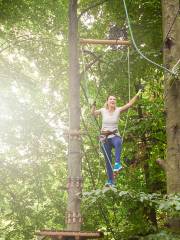
[[[69,153],[67,230],[80,231],[80,74],[77,0],[69,0]]]

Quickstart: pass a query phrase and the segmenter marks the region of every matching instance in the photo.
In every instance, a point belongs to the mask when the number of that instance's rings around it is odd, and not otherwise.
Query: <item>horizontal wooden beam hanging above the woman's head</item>
[[[103,40],[103,39],[80,39],[80,44],[102,44],[102,45],[125,45],[129,46],[130,41],[126,40]]]

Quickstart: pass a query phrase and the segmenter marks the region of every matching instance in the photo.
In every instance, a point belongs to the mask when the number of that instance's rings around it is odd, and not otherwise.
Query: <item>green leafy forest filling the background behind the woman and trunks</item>
[[[127,0],[127,7],[137,45],[162,64],[161,2]],[[65,228],[68,1],[1,0],[0,12],[0,239],[28,240],[38,229]],[[122,1],[82,0],[78,13],[81,38],[108,39],[114,25],[129,38]],[[167,219],[179,216],[180,197],[166,195],[157,164],[166,158],[163,71],[133,47],[129,58],[127,47],[84,46],[79,55],[82,229],[102,230],[105,239],[179,239],[168,231]],[[127,114],[119,123],[125,170],[117,188],[108,190],[97,140],[100,120],[91,117],[90,106],[96,101],[102,107],[108,94],[118,105],[128,102],[128,73],[131,96],[139,87],[144,91],[127,127]]]

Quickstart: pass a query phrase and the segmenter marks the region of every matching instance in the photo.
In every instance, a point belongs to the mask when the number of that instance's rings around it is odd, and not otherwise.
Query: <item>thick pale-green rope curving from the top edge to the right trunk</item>
[[[134,48],[136,49],[136,51],[140,54],[140,56],[142,58],[144,58],[146,61],[150,62],[151,64],[155,65],[156,67],[158,68],[161,68],[165,71],[167,71],[168,73],[172,74],[172,75],[175,75],[173,71],[169,70],[168,68],[152,61],[151,59],[149,59],[148,57],[146,57],[142,52],[141,50],[138,48],[136,42],[135,42],[135,39],[134,39],[134,36],[133,36],[133,32],[132,32],[132,28],[131,28],[131,23],[130,23],[130,19],[129,19],[129,15],[128,15],[128,10],[127,10],[127,5],[126,5],[126,0],[123,0],[123,3],[124,3],[124,10],[125,10],[125,13],[126,13],[126,18],[127,18],[127,23],[128,23],[128,27],[129,27],[129,32],[130,32],[130,35],[131,35],[131,39],[132,39],[132,43],[133,43],[133,46]]]

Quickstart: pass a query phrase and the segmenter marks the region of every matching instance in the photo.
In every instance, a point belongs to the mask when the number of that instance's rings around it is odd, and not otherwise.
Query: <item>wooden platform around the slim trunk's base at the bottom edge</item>
[[[102,232],[76,232],[76,231],[52,231],[42,230],[36,233],[39,239],[61,239],[61,240],[84,240],[102,238]]]

